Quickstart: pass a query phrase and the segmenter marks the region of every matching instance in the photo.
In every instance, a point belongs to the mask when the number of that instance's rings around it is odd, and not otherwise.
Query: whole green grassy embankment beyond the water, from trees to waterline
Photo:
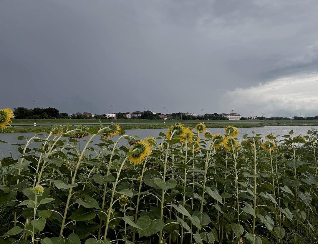
[[[33,124],[32,119],[13,119],[12,124]],[[161,125],[145,125],[139,123],[160,123],[162,120],[147,120],[147,119],[127,119],[127,120],[114,120],[115,123],[120,123],[121,127],[124,130],[136,130],[136,129],[161,129],[167,128],[169,125],[161,124]],[[189,127],[193,127],[195,123],[202,122],[201,120],[166,120],[167,123],[174,123],[174,122],[181,122],[181,123],[193,123],[187,125]],[[92,124],[98,123],[98,120],[92,119],[38,119],[37,124],[63,124],[63,123],[78,123],[78,124]],[[110,123],[110,120],[102,120],[103,124]],[[124,123],[132,123],[132,125],[124,125]],[[314,126],[318,125],[318,122],[315,120],[296,120],[296,121],[287,121],[287,120],[280,120],[280,121],[268,121],[266,123],[261,123],[255,121],[255,123],[251,123],[249,120],[241,120],[232,123],[229,120],[205,120],[205,125],[207,128],[225,128],[226,125],[233,125],[237,128],[252,128],[252,127],[264,127],[264,126],[298,126],[298,125],[309,125]],[[92,125],[87,125],[91,127]],[[98,126],[98,125],[96,125]],[[71,126],[71,128],[75,128],[75,126]],[[14,132],[32,132],[35,129],[33,126],[28,127],[9,127],[0,131],[0,133],[14,133]],[[51,130],[51,126],[37,126],[36,129],[40,132],[47,132]]]

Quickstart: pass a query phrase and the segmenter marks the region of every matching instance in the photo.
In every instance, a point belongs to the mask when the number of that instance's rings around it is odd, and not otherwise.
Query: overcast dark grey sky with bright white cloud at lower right
[[[315,116],[317,13],[316,0],[0,0],[0,107]]]

